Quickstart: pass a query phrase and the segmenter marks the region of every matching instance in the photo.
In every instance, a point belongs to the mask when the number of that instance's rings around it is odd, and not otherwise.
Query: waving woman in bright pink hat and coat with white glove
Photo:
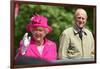
[[[57,59],[55,42],[46,38],[46,35],[52,31],[47,21],[46,17],[38,14],[31,18],[26,29],[28,32],[32,33],[32,37],[28,37],[28,33],[25,33],[23,39],[20,41],[17,57],[19,55],[24,55],[46,61]]]

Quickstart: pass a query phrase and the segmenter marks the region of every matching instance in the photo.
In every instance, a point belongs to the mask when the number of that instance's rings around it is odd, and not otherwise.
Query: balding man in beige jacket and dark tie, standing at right
[[[84,27],[86,11],[78,8],[74,18],[73,27],[65,29],[60,37],[59,59],[94,57],[94,39],[92,33]]]

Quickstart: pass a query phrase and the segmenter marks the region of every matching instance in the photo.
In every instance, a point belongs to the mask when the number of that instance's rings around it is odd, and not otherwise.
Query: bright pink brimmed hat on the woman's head
[[[30,32],[30,30],[34,27],[43,27],[47,28],[48,32],[52,31],[52,28],[47,24],[48,19],[41,15],[34,15],[31,18],[31,22],[26,26],[26,30]]]

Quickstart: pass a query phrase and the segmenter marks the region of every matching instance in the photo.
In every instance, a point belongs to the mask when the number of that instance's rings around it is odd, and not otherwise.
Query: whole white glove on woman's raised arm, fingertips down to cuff
[[[28,37],[28,33],[25,33],[25,35],[23,37],[23,46],[22,46],[22,49],[21,49],[22,55],[25,54],[25,51],[30,44],[30,40],[31,40],[31,37]]]

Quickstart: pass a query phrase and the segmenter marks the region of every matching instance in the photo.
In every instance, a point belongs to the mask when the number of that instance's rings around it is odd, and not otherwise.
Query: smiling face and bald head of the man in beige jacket
[[[87,15],[84,11],[78,11],[75,15],[75,23],[79,28],[83,28],[87,21]]]

